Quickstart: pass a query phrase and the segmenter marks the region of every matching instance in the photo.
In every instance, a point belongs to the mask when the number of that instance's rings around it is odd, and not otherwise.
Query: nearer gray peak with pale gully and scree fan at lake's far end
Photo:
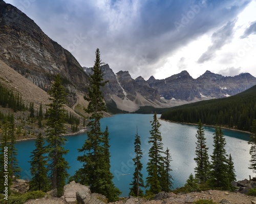
[[[92,68],[83,67],[84,71],[90,75]],[[120,71],[114,74],[109,64],[101,66],[103,79],[108,81],[102,88],[102,94],[107,103],[114,102],[118,109],[125,111],[135,111],[140,106],[162,107],[159,93],[151,88],[142,78],[132,79],[128,71]]]

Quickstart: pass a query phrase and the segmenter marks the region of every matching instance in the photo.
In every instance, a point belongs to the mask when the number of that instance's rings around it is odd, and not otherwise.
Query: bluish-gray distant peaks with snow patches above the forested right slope
[[[206,71],[197,79],[193,79],[186,71],[166,79],[157,80],[153,76],[147,80],[150,87],[158,90],[165,99],[181,99],[186,101],[195,98],[224,98],[233,96],[256,84],[256,78],[248,73],[234,77],[224,77]]]

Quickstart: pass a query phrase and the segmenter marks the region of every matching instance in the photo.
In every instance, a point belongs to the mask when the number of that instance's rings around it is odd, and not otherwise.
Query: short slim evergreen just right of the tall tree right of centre
[[[167,147],[165,151],[165,157],[164,157],[164,172],[162,174],[162,191],[164,192],[170,192],[170,190],[173,187],[173,177],[170,175],[170,171],[173,171],[170,168],[170,162],[172,161],[172,157],[170,156],[169,149]]]

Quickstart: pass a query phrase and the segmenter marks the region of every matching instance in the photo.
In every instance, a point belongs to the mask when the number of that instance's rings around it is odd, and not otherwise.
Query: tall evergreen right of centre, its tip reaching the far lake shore
[[[154,114],[154,120],[151,123],[152,129],[150,130],[151,137],[148,141],[151,144],[151,148],[148,152],[149,160],[147,162],[147,173],[146,177],[146,190],[147,195],[157,194],[162,191],[163,186],[161,186],[162,174],[164,172],[164,157],[162,156],[163,144],[162,136],[159,131],[161,124],[157,120],[156,113]]]

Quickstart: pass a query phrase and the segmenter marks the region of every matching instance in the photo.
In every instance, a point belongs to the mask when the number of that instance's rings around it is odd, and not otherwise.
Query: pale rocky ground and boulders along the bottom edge
[[[65,192],[61,198],[54,197],[54,191],[49,192],[45,198],[29,200],[25,204],[103,204],[106,200],[104,196],[99,194],[92,194],[90,189],[86,186],[71,182],[64,188]],[[159,193],[153,200],[144,200],[141,198],[123,198],[112,204],[170,204],[170,203],[193,203],[199,199],[212,199],[217,203],[252,203],[256,204],[256,197],[247,196],[241,193],[232,193],[219,190],[208,190],[204,192],[192,192],[186,194],[174,193]]]

